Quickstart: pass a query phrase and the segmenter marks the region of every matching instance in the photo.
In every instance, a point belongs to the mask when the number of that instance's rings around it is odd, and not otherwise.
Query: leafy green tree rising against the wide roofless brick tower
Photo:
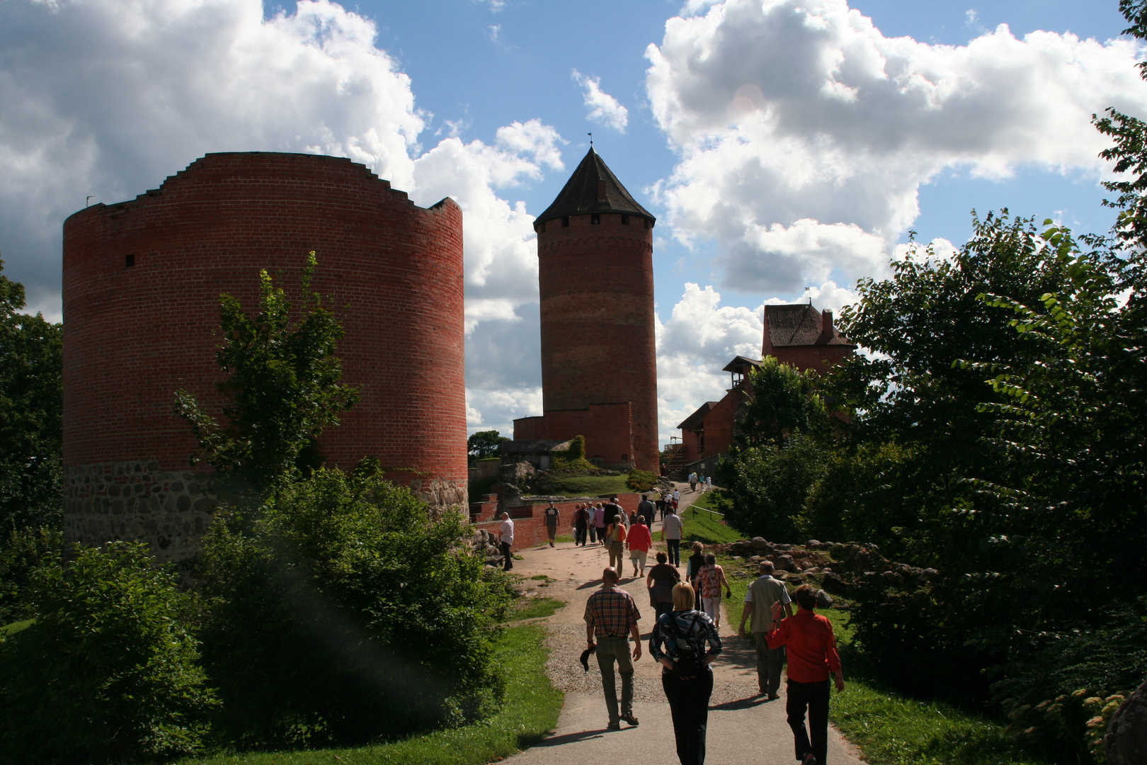
[[[257,495],[301,469],[321,463],[318,438],[338,424],[338,413],[358,401],[353,388],[338,384],[342,362],[335,356],[343,329],[322,297],[311,291],[315,255],[306,258],[299,286],[303,312],[291,318],[291,304],[266,271],[259,272],[259,313],[250,317],[239,299],[223,295],[223,344],[219,369],[231,376],[219,383],[231,404],[220,426],[186,390],[175,393],[175,412],[192,424],[200,442],[194,462],[208,462],[236,485]]]

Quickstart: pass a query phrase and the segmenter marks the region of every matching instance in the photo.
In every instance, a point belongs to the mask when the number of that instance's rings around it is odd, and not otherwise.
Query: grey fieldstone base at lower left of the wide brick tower
[[[64,540],[101,545],[147,542],[166,563],[195,555],[211,525],[216,500],[209,476],[164,473],[156,460],[109,462],[64,471]]]

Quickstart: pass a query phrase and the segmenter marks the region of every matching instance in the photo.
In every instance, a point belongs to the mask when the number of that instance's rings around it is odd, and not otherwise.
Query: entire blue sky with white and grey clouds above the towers
[[[684,5],[682,5],[684,2]],[[972,211],[1103,232],[1091,116],[1147,115],[1115,0],[0,0],[0,257],[61,319],[61,226],[209,151],[348,156],[465,213],[467,423],[541,413],[533,216],[594,148],[657,217],[662,443]]]

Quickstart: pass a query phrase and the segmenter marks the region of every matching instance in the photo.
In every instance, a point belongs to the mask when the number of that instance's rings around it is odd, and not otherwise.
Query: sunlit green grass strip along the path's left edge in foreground
[[[537,743],[557,725],[562,693],[546,676],[545,632],[535,625],[506,631],[498,657],[509,680],[502,711],[451,731],[353,749],[218,755],[181,765],[482,765]]]

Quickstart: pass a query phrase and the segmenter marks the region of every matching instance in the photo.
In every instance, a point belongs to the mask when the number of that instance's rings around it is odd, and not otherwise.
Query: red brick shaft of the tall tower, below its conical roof
[[[630,460],[660,471],[653,226],[621,213],[575,214],[568,221],[547,220],[538,229],[544,416],[630,403]],[[551,429],[548,437],[577,435]],[[602,448],[617,439],[606,430],[580,435],[591,454],[599,439]]]

